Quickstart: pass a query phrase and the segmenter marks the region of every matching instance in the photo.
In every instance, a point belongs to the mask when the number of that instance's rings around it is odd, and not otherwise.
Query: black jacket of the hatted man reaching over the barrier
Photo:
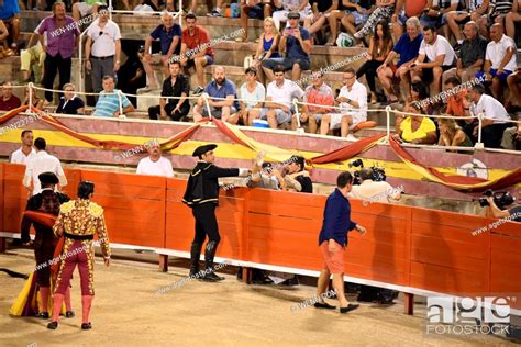
[[[240,170],[223,169],[213,164],[198,161],[190,174],[182,202],[190,208],[203,203],[219,204],[219,177],[239,176]]]

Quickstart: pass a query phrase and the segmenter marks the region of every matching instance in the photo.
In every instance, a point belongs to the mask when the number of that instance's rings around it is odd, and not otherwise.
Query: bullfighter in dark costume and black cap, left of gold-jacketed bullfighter
[[[54,188],[59,182],[58,177],[53,172],[43,172],[38,175],[40,184],[42,191],[29,199],[25,211],[38,211],[58,215],[59,206],[62,203],[69,201],[69,197],[66,194],[55,192]],[[51,288],[51,264],[53,259],[54,248],[56,247],[56,238],[54,237],[53,230],[41,223],[32,221],[26,215],[22,219],[21,226],[21,238],[22,243],[29,245],[31,237],[29,231],[31,225],[34,226],[36,235],[34,237],[34,257],[36,258],[36,283],[40,287],[40,296],[42,299],[41,312],[37,314],[38,317],[47,320],[48,315],[48,299]],[[67,300],[65,301],[67,306],[67,317],[73,317],[74,312],[70,309],[70,292],[66,293]]]

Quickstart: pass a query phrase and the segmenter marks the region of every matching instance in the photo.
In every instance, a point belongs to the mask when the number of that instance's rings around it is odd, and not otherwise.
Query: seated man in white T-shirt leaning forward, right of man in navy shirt
[[[425,58],[429,61],[424,63]],[[434,26],[423,27],[423,41],[417,60],[411,65],[412,82],[433,81],[432,93],[441,90],[442,75],[452,69],[456,63],[456,53],[442,35],[437,35]]]

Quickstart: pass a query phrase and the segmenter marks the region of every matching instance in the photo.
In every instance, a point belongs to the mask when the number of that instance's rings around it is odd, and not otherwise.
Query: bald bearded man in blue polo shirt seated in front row
[[[208,113],[204,97],[208,98],[210,113]],[[198,99],[193,108],[193,122],[199,122],[202,117],[214,116],[223,122],[237,124],[239,102],[235,85],[226,79],[226,71],[222,66],[213,68],[213,80],[204,88],[204,93]]]

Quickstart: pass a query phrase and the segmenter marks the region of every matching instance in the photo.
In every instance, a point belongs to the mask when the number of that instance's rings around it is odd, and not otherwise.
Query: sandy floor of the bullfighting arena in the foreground
[[[133,258],[154,255],[136,255]],[[137,256],[137,257],[136,257]],[[0,255],[0,267],[20,272],[34,268],[29,249]],[[233,269],[229,269],[230,273]],[[314,288],[246,286],[233,275],[220,283],[191,281],[157,295],[158,289],[186,276],[187,269],[113,260],[110,268],[96,261],[96,299],[92,329],[82,332],[79,276],[73,288],[74,318],[60,318],[57,331],[46,321],[14,318],[9,309],[24,280],[0,272],[0,346],[508,346],[502,337],[487,335],[426,335],[425,306],[415,304],[413,316],[402,313],[401,300],[392,306],[363,304],[347,315],[313,307],[292,312],[314,295]],[[401,298],[401,296],[400,296]],[[421,300],[418,298],[418,300]],[[333,302],[333,301],[332,301]]]

